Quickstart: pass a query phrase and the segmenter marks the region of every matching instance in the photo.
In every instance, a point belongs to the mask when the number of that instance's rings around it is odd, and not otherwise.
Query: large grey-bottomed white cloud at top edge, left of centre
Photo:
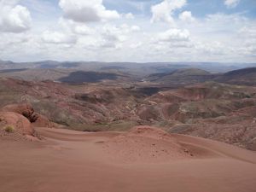
[[[120,17],[117,11],[106,9],[102,0],[61,0],[59,5],[65,18],[77,22],[113,20]]]

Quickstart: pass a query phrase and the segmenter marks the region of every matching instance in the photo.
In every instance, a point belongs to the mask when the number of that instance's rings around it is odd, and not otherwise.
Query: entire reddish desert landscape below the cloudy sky
[[[254,191],[256,67],[6,62],[1,191]]]

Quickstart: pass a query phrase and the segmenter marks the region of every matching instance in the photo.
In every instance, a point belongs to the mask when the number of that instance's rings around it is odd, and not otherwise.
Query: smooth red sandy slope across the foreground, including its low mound
[[[228,144],[181,135],[166,137],[161,132],[151,137],[137,132],[37,131],[45,137],[43,142],[7,142],[0,137],[1,192],[256,190],[256,154]],[[130,154],[120,154],[122,148]],[[152,148],[167,149],[178,158],[157,154]],[[137,153],[143,158],[125,160]]]

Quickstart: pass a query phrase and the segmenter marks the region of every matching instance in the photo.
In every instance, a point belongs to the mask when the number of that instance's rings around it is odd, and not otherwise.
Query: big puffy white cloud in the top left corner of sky
[[[32,26],[32,18],[26,7],[16,1],[0,2],[0,32],[25,32]]]

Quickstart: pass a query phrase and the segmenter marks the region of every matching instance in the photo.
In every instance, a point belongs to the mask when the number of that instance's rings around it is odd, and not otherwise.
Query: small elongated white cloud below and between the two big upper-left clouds
[[[77,38],[73,35],[49,31],[43,33],[42,40],[47,44],[75,44],[77,42]]]

